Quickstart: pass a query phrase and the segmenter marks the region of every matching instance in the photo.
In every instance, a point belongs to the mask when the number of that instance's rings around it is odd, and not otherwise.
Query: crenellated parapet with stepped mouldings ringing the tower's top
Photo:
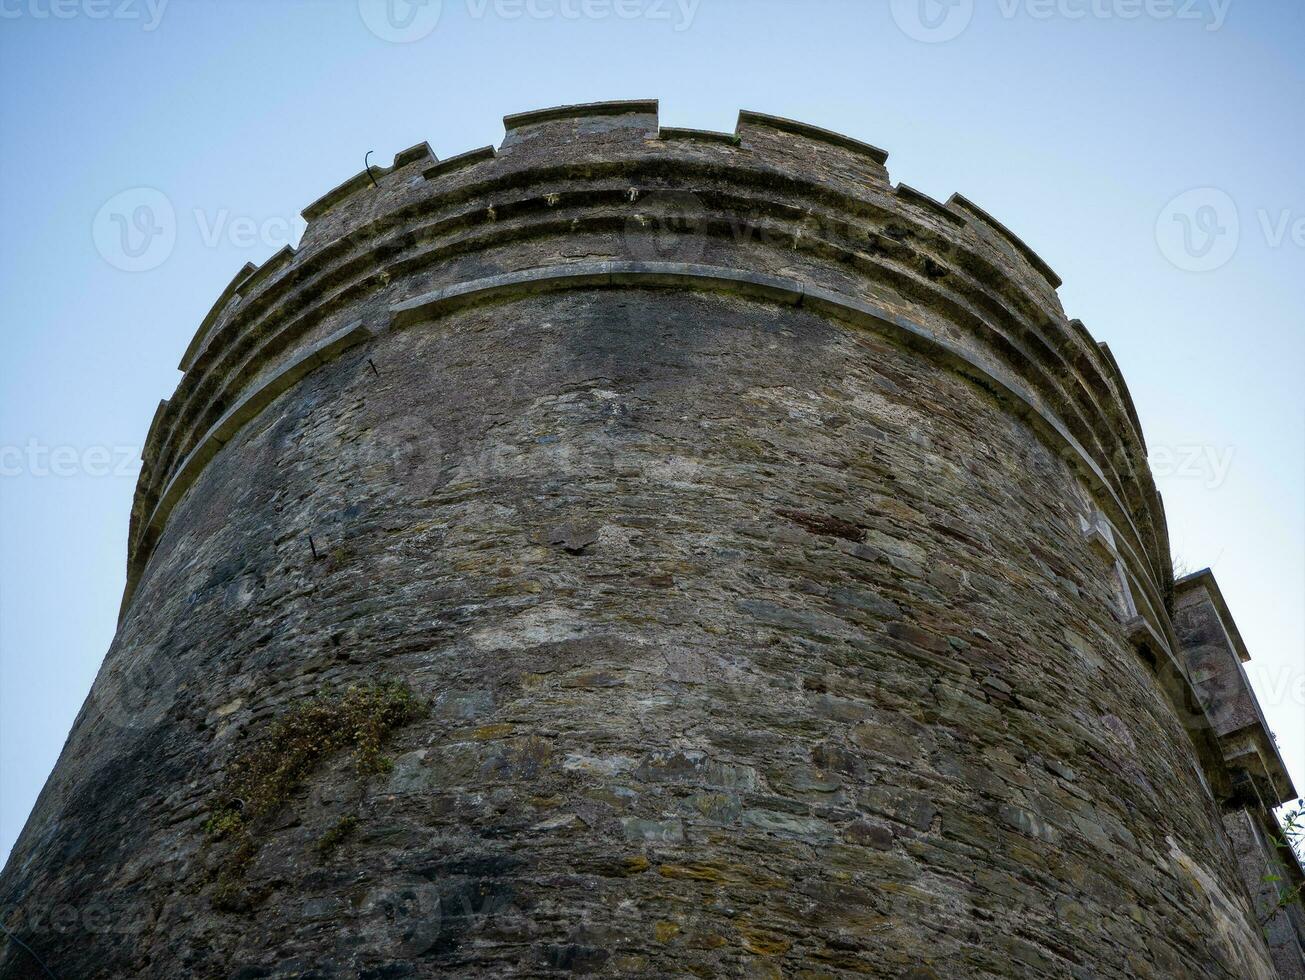
[[[1060,278],[1005,226],[959,194],[940,204],[894,187],[874,146],[757,112],[740,114],[733,134],[663,129],[655,102],[527,112],[505,129],[499,147],[437,161],[422,144],[361,171],[304,210],[298,248],[235,277],[151,429],[124,609],[168,501],[204,446],[219,445],[232,406],[359,307],[381,331],[393,308],[472,281],[517,275],[538,288],[531,270],[669,260],[767,270],[844,309],[869,304],[878,313],[859,316],[870,329],[908,324],[911,343],[959,356],[1081,471],[1138,613],[1172,652],[1164,519],[1126,386],[1065,317]],[[697,282],[707,279],[723,282]]]

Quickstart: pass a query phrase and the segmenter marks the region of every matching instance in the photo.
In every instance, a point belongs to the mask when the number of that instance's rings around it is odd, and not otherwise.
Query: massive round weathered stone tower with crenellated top
[[[800,123],[505,123],[200,325],[0,976],[1301,976],[1047,264]]]

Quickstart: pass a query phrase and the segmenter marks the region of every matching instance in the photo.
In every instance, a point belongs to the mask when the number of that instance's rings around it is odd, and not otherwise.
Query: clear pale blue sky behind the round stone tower
[[[367,150],[617,98],[850,133],[1031,243],[1167,453],[1174,551],[1219,577],[1305,786],[1300,0],[394,1],[0,0],[0,856],[114,633],[121,461],[236,269]],[[175,244],[124,271],[97,215],[140,187]]]

